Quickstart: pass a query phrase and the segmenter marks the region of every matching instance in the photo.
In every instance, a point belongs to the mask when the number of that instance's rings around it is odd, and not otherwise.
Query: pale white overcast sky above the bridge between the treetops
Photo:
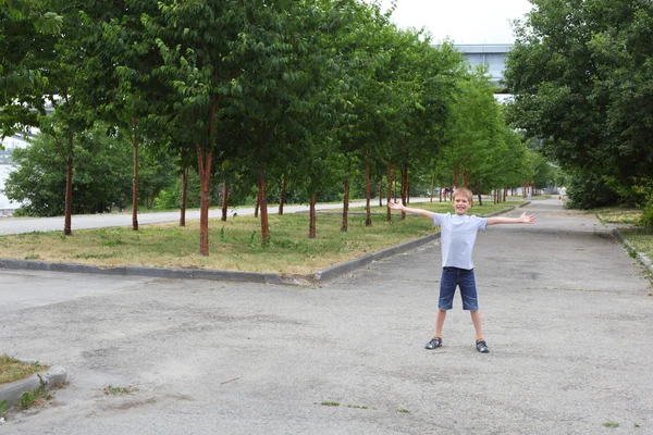
[[[510,22],[530,11],[528,0],[396,0],[394,22],[402,28],[426,27],[433,42],[512,44]],[[382,0],[384,10],[391,0]]]

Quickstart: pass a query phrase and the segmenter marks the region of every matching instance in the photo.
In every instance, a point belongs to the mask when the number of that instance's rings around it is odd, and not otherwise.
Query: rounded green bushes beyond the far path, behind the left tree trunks
[[[112,207],[123,209],[132,195],[132,147],[122,135],[107,136],[106,128],[97,127],[77,136],[73,162],[74,213],[102,213]],[[170,163],[162,158],[148,165],[143,185],[149,195],[171,183]],[[8,198],[22,202],[22,212],[30,216],[63,214],[65,195],[65,165],[58,152],[56,140],[39,135],[27,148],[13,153],[16,170],[5,183]],[[168,169],[165,169],[168,167]]]

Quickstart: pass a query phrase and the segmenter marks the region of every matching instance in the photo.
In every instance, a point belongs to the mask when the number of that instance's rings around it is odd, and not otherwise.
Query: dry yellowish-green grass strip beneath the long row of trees
[[[507,210],[519,202],[475,206],[471,212],[486,214]],[[445,212],[451,202],[424,202],[414,207]],[[282,275],[312,274],[333,264],[362,257],[401,243],[436,233],[427,219],[393,213],[386,222],[385,207],[373,208],[372,226],[365,215],[352,214],[342,232],[342,212],[318,213],[317,237],[308,237],[308,213],[269,215],[270,240],[261,243],[260,220],[254,216],[209,222],[209,256],[199,254],[199,221],[131,227],[35,232],[0,236],[4,259],[38,259],[52,263],[81,263],[101,268],[140,265],[153,268],[209,269],[270,272]]]

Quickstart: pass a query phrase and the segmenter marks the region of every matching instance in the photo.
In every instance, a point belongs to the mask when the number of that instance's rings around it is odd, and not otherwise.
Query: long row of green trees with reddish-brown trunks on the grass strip
[[[451,44],[438,48],[358,0],[35,0],[56,33],[0,12],[2,135],[38,126],[65,167],[64,233],[71,234],[79,140],[102,120],[130,138],[133,227],[139,151],[174,156],[183,179],[200,178],[200,252],[208,254],[211,176],[256,186],[261,237],[267,189],[305,194],[316,236],[320,191],[365,174],[391,196],[412,183],[479,191],[521,185],[538,162],[507,128],[484,71]],[[46,105],[52,104],[52,115]],[[410,178],[409,178],[410,174]],[[410,181],[409,181],[410,179]],[[185,184],[184,195],[185,198]],[[24,199],[14,197],[13,199]],[[185,203],[182,200],[182,222]],[[280,212],[282,209],[280,208]],[[390,219],[390,211],[387,214]]]

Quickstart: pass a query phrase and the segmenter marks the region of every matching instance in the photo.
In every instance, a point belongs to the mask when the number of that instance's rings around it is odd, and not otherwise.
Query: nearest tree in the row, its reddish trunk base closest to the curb
[[[224,120],[230,99],[242,92],[238,77],[246,57],[242,33],[249,3],[170,1],[160,16],[145,15],[146,39],[156,44],[161,65],[153,77],[169,86],[168,104],[157,117],[160,127],[175,126],[184,154],[197,159],[200,175],[200,248],[209,254],[209,188],[213,156],[229,154]]]

